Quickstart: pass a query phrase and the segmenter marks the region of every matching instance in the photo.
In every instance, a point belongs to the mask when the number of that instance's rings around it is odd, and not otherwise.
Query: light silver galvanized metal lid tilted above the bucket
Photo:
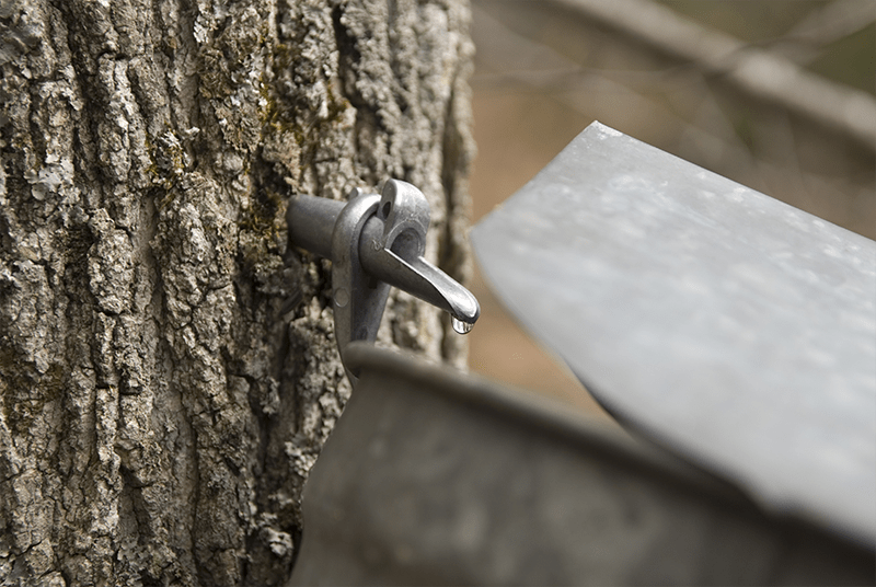
[[[612,413],[876,544],[876,243],[599,123],[472,239]]]

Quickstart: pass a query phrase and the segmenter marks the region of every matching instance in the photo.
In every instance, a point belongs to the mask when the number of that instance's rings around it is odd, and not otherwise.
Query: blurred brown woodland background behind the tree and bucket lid
[[[876,1],[473,0],[473,225],[600,120],[876,238]],[[472,286],[472,371],[603,414]]]

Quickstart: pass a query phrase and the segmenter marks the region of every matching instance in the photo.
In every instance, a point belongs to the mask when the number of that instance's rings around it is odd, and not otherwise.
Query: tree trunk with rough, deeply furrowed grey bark
[[[0,5],[0,583],[270,585],[349,385],[291,193],[392,176],[464,279],[463,0]],[[453,362],[437,311],[381,336]]]

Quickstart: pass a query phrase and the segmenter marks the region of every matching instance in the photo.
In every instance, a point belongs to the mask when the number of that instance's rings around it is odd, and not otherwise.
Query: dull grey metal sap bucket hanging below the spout
[[[364,343],[290,585],[867,585],[873,549],[543,398]]]

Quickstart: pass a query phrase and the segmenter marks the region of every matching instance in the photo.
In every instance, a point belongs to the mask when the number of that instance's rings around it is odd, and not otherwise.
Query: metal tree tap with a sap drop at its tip
[[[380,196],[356,188],[346,203],[295,196],[286,220],[293,245],[332,261],[335,338],[345,368],[348,343],[377,337],[391,285],[448,312],[460,334],[481,314],[468,289],[423,258],[429,204],[406,182],[388,181]],[[347,369],[354,383],[355,376]]]

